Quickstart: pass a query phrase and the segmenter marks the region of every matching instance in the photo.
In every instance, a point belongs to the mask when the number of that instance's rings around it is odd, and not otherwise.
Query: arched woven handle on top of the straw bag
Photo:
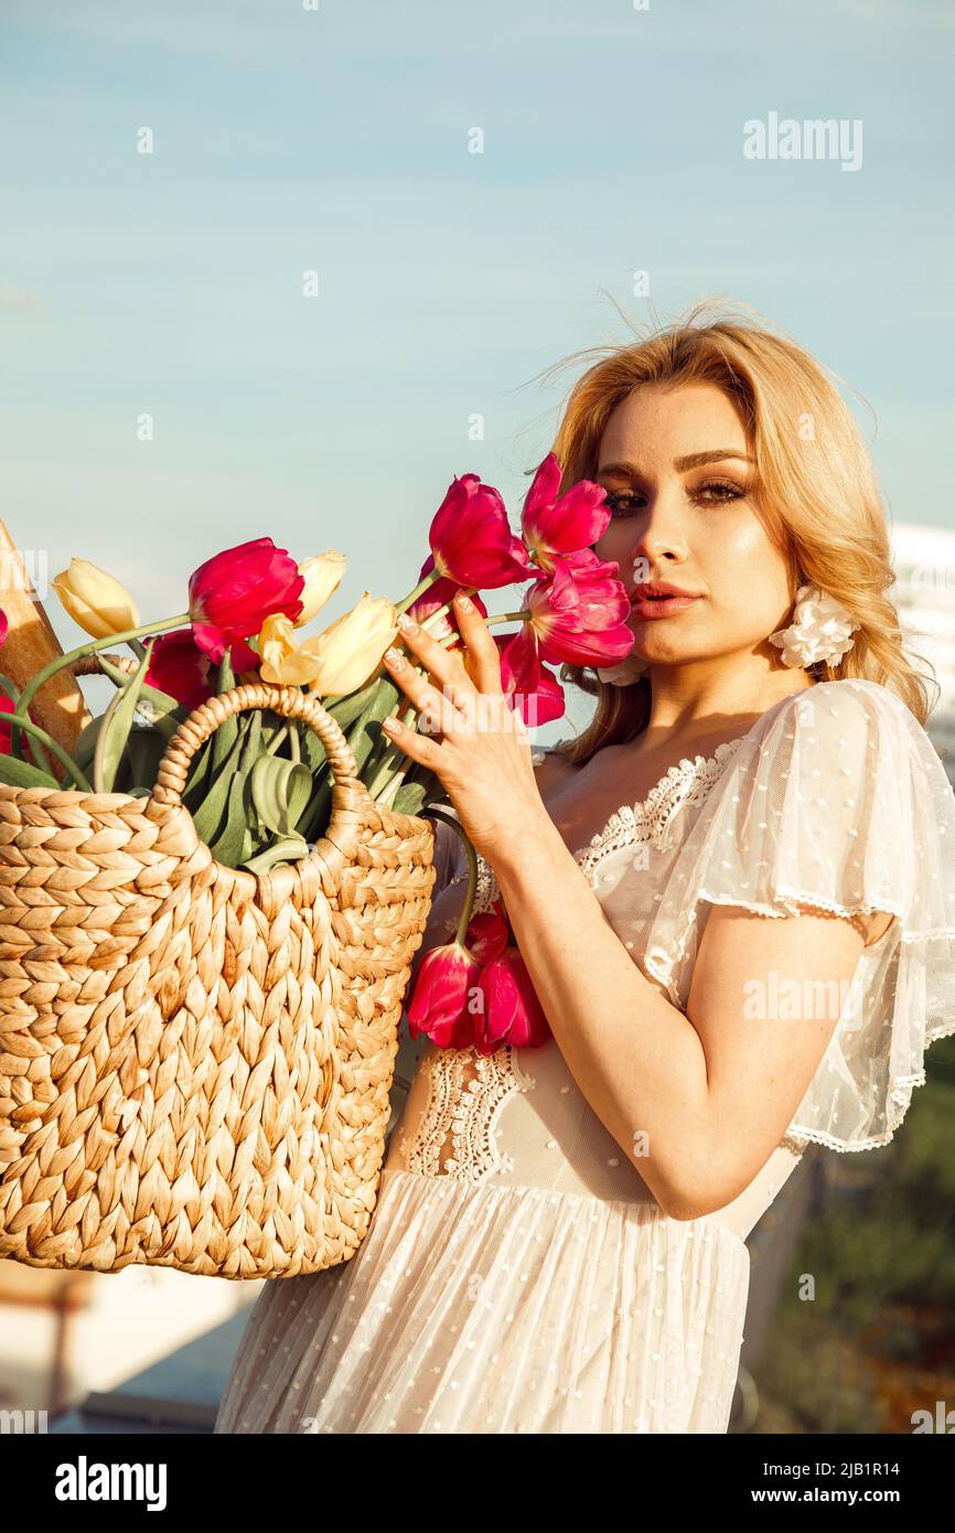
[[[351,806],[350,800],[354,797],[360,802],[371,797],[365,783],[359,780],[357,762],[348,740],[322,704],[316,698],[308,698],[299,687],[274,687],[261,681],[233,687],[231,691],[224,691],[193,708],[166,747],[152,797],[169,808],[179,808],[195,753],[221,724],[247,708],[267,708],[284,719],[300,719],[319,736],[334,773],[333,812]]]

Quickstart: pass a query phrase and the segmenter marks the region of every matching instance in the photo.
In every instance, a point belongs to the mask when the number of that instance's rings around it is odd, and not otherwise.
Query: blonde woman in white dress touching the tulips
[[[725,1432],[747,1234],[806,1144],[886,1144],[955,1029],[955,797],[865,448],[803,351],[694,317],[592,365],[556,437],[635,596],[622,671],[564,670],[583,736],[532,756],[464,602],[468,673],[422,632],[426,673],[391,665],[445,707],[394,739],[550,1036],[425,1052],[363,1245],[265,1286],[216,1432]]]

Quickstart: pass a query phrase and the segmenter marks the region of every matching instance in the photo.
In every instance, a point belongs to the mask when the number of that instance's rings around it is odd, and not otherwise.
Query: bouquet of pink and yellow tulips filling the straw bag
[[[549,454],[527,492],[523,537],[517,537],[492,486],[477,474],[455,477],[432,518],[431,552],[414,589],[397,602],[365,590],[350,612],[314,635],[300,630],[337,590],[346,567],[345,555],[333,549],[304,563],[267,537],[227,549],[190,576],[185,612],[150,622],[141,622],[120,581],[84,560],[72,560],[52,584],[90,642],[57,656],[21,688],[0,675],[0,708],[6,713],[0,782],[146,796],[169,740],[195,708],[238,684],[262,681],[300,687],[322,702],[343,730],[362,782],[380,805],[417,814],[432,799],[448,802],[434,773],[412,763],[382,730],[382,719],[394,711],[415,727],[414,710],[400,699],[382,665],[385,650],[402,641],[402,612],[411,612],[448,648],[461,648],[449,616],[458,587],[472,596],[489,625],[520,624],[495,636],[495,642],[503,690],[527,725],[544,724],[564,710],[563,688],[550,665],[612,665],[632,647],[625,622],[630,604],[615,578],[618,566],[599,560],[590,547],[610,518],[604,491],[581,481],[561,495],[560,481],[560,464]],[[524,579],[529,586],[520,609],[489,616],[478,590]],[[0,645],[5,638],[0,613]],[[120,644],[132,652],[123,665],[104,653]],[[31,716],[31,702],[58,668],[89,655],[98,656],[115,693],[104,713],[66,750]],[[460,658],[468,665],[464,652]],[[2,665],[0,648],[0,671]],[[264,874],[296,862],[328,826],[331,773],[323,745],[311,730],[268,708],[236,714],[193,757],[182,800],[221,863]],[[517,949],[507,946],[501,909],[497,924],[475,917],[469,926],[477,858],[457,820],[451,823],[464,840],[472,868],[463,926],[452,944],[460,949],[455,961],[461,955],[469,964],[481,960],[487,993],[501,993],[512,983]],[[471,947],[464,946],[466,932]]]

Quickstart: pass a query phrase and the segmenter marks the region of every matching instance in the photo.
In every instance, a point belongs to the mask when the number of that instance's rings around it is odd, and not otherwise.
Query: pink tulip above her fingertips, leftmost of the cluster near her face
[[[494,590],[526,579],[527,549],[510,530],[504,501],[477,474],[454,477],[428,532],[432,564],[458,586]]]

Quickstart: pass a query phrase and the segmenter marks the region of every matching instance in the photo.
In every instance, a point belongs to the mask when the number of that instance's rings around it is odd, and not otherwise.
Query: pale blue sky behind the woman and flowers
[[[397,598],[454,474],[517,521],[579,368],[535,377],[653,317],[639,268],[662,322],[782,325],[952,526],[953,43],[947,0],[5,0],[5,521],[144,618],[262,533],[348,553],[328,616]],[[747,161],[770,112],[860,120],[861,169]]]

